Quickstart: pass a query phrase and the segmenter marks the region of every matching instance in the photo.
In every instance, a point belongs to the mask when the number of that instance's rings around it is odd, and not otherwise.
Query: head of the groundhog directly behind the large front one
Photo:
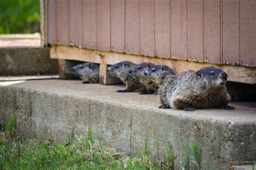
[[[157,65],[144,71],[144,75],[154,82],[161,81],[170,74],[175,74],[174,70],[165,65]]]

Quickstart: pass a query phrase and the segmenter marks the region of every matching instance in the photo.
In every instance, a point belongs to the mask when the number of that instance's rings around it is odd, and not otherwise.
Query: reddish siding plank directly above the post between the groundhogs
[[[110,51],[110,0],[97,0],[97,49]]]

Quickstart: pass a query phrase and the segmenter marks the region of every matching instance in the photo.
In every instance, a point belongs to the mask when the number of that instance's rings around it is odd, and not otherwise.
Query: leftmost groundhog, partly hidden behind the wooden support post
[[[72,67],[71,71],[79,76],[83,83],[99,83],[99,64],[97,63],[85,62]]]

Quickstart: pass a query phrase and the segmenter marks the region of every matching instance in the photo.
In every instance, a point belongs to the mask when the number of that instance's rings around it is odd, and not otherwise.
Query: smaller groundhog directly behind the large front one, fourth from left
[[[176,79],[176,72],[165,65],[158,65],[152,68],[146,69],[144,72],[149,79],[151,79],[158,86],[158,95],[160,97],[161,106],[160,109],[168,109],[169,105],[166,104],[166,90],[167,86]],[[163,87],[166,86],[166,87]]]

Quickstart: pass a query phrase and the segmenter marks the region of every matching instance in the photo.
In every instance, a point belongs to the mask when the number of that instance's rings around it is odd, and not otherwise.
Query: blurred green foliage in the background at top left
[[[0,34],[40,32],[39,0],[0,0]]]

